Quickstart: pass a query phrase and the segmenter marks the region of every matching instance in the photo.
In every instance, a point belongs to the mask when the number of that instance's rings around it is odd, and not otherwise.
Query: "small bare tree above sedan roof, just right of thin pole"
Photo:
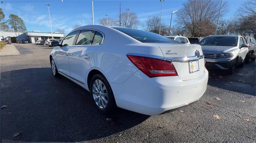
[[[140,24],[138,20],[138,16],[134,12],[123,12],[121,13],[121,26],[127,27],[128,25],[132,25],[133,27],[137,27]]]

